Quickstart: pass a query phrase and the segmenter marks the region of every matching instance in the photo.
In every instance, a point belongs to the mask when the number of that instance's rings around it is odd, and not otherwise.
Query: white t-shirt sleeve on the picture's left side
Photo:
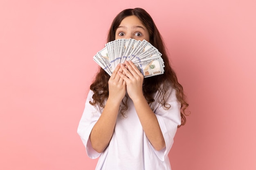
[[[92,131],[94,124],[97,122],[99,117],[101,116],[101,109],[98,106],[90,105],[89,101],[92,101],[93,92],[90,90],[88,93],[88,97],[85,102],[85,108],[83,111],[83,115],[79,122],[77,133],[82,139],[83,145],[86,148],[86,153],[88,157],[91,159],[96,159],[101,155],[92,148],[92,144],[90,142],[89,136]]]

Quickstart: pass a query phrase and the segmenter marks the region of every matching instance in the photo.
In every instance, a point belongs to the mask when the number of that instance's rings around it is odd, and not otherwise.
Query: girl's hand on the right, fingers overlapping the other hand
[[[118,75],[125,81],[127,93],[135,101],[143,96],[142,84],[144,76],[138,70],[138,68],[132,63],[132,61],[125,61],[121,64],[121,71],[118,71]]]

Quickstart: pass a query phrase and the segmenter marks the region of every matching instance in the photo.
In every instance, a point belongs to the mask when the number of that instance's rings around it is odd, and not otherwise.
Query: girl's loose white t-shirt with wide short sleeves
[[[171,170],[168,153],[177,126],[181,123],[180,102],[177,101],[174,89],[168,91],[166,102],[171,105],[170,109],[164,109],[156,101],[153,103],[154,113],[166,143],[166,147],[160,151],[155,150],[150,144],[133,102],[128,98],[126,118],[119,113],[109,145],[102,153],[97,153],[91,146],[89,135],[103,108],[90,105],[92,94],[90,90],[77,133],[85,145],[88,157],[92,159],[99,157],[96,170]]]

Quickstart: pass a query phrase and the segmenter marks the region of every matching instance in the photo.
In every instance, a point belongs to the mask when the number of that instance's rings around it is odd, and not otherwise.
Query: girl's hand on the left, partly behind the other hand
[[[119,74],[117,74],[117,72],[120,72],[121,74],[123,72],[120,68],[120,64],[117,65],[108,80],[108,99],[117,100],[117,102],[120,103],[126,94],[126,82],[119,76]]]

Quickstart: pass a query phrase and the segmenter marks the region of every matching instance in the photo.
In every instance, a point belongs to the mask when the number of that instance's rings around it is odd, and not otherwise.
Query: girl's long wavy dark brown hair
[[[159,102],[162,104],[162,106],[165,109],[169,109],[171,106],[166,103],[166,92],[170,88],[170,85],[176,90],[176,97],[177,100],[181,103],[181,125],[184,125],[186,123],[186,117],[187,114],[185,113],[185,109],[189,106],[189,104],[186,102],[186,96],[183,91],[182,85],[177,81],[177,76],[175,71],[171,68],[171,64],[169,62],[167,53],[166,53],[166,46],[164,44],[164,41],[162,39],[162,36],[160,35],[152,17],[141,8],[135,8],[135,9],[125,9],[121,11],[113,20],[109,32],[108,32],[108,39],[107,41],[113,41],[115,40],[115,32],[117,30],[117,27],[120,25],[121,21],[128,16],[135,15],[136,17],[141,20],[142,24],[148,29],[149,37],[150,37],[150,44],[155,46],[159,50],[159,52],[162,53],[162,59],[164,60],[164,74],[160,74],[157,76],[151,76],[144,78],[143,82],[143,94],[148,101],[148,104],[152,108],[152,103]],[[102,68],[99,69],[99,72],[96,75],[95,80],[90,85],[90,89],[94,92],[92,98],[93,101],[90,101],[91,105],[99,105],[101,107],[105,107],[105,101],[108,98],[108,80],[110,76],[104,71]],[[158,96],[154,99],[154,94],[156,92],[158,93]],[[124,111],[128,109],[127,106],[127,98],[128,96],[125,96],[124,99],[121,102],[120,112],[124,116]],[[178,127],[180,127],[178,126]]]

